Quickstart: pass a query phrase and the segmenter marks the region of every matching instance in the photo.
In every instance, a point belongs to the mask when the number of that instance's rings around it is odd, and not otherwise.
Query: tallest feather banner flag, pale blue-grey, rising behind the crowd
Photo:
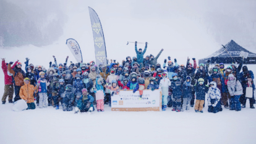
[[[103,34],[103,30],[101,27],[100,19],[96,12],[91,8],[89,8],[91,23],[92,23],[92,30],[93,30],[93,40],[94,40],[94,47],[95,47],[95,59],[96,64],[99,65],[100,63],[106,65],[106,45],[105,45],[105,38]]]

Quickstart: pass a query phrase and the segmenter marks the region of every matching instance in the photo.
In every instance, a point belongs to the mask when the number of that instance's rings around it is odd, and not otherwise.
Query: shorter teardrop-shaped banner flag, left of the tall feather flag
[[[69,47],[75,59],[77,60],[77,62],[83,62],[81,49],[77,41],[74,40],[73,38],[69,38],[67,39],[66,44],[67,44],[67,47]]]

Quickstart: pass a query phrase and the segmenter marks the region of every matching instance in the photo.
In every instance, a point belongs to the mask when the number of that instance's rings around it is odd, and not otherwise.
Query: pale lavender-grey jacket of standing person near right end
[[[230,75],[233,76],[233,75]],[[229,77],[230,77],[229,76]],[[231,96],[237,96],[242,95],[242,85],[239,82],[239,80],[236,80],[236,77],[234,77],[234,80],[228,80],[228,92]]]

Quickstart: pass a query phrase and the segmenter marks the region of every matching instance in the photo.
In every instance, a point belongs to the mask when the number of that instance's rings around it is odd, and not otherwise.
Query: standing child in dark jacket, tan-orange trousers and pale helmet
[[[204,85],[203,78],[198,79],[198,85],[195,85],[195,92],[197,93],[195,101],[195,112],[203,113],[203,104],[205,103],[205,93],[208,92],[208,85]]]

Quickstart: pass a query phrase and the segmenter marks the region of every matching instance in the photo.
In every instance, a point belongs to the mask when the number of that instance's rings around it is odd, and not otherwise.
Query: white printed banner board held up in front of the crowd
[[[160,111],[161,91],[143,90],[140,100],[139,91],[120,90],[119,95],[111,96],[112,111]]]

